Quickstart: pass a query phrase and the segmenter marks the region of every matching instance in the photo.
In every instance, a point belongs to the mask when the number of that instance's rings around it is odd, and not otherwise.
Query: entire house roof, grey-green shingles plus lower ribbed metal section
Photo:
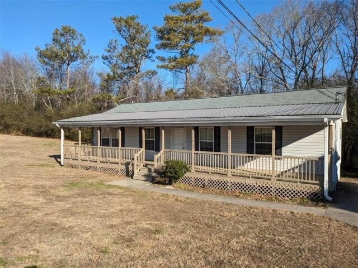
[[[337,94],[338,92],[343,94]],[[195,120],[216,122],[239,119],[256,120],[258,118],[268,120],[268,117],[274,118],[275,116],[280,116],[281,119],[285,118],[285,120],[294,116],[300,117],[300,120],[310,120],[313,117],[323,118],[327,115],[338,119],[345,113],[344,92],[344,87],[338,87],[122,104],[105,113],[63,119],[53,123],[88,126],[100,125],[101,123],[153,124],[158,121],[170,124]],[[338,99],[336,99],[336,94]]]

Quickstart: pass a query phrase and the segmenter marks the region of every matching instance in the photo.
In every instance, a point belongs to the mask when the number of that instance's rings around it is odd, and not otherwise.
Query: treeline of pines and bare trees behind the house
[[[69,25],[34,48],[35,59],[2,51],[0,131],[58,137],[52,121],[123,102],[347,85],[343,162],[358,165],[358,0],[285,1],[246,22],[251,33],[229,14],[225,29],[208,26],[201,1],[169,10],[153,29],[136,15],[112,18],[115,35],[102,55],[86,50],[84,36]],[[196,54],[206,43],[209,53]],[[98,58],[106,71],[93,68]],[[146,69],[154,60],[157,68]]]

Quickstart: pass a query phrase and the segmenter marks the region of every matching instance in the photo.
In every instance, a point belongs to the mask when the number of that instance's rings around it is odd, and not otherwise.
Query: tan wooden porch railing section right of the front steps
[[[222,152],[194,152],[189,150],[162,150],[154,156],[154,166],[165,160],[180,160],[194,171],[257,177],[294,182],[317,183],[323,179],[324,160],[315,157],[275,156],[260,154],[229,154]],[[272,165],[274,159],[274,167]],[[230,166],[230,167],[229,167]]]

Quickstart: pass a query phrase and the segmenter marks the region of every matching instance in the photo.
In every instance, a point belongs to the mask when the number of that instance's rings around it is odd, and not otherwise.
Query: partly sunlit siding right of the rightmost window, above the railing
[[[299,157],[323,156],[323,126],[283,126],[282,155]]]

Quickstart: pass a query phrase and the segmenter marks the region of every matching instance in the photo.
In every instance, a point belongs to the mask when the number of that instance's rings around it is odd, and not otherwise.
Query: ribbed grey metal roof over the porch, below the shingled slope
[[[250,106],[214,109],[102,113],[58,120],[61,126],[143,125],[143,124],[231,124],[272,121],[321,121],[342,117],[344,103]]]

